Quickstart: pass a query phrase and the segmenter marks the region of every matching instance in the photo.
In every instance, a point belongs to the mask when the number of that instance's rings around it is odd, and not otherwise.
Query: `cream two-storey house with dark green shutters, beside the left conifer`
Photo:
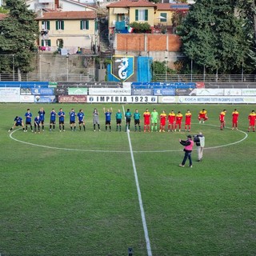
[[[75,54],[81,49],[92,49],[98,40],[95,11],[50,11],[36,20],[41,29],[41,50]]]

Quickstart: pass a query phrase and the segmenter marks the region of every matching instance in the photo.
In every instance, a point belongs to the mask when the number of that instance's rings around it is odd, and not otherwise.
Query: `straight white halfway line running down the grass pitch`
[[[125,108],[123,105],[122,105],[122,111],[123,111],[123,114],[125,115]],[[134,178],[135,178],[136,187],[137,187],[139,207],[140,207],[141,215],[142,215],[142,225],[143,225],[143,230],[144,230],[144,235],[145,235],[145,240],[146,240],[147,255],[152,256],[152,251],[151,251],[151,246],[150,246],[150,237],[149,237],[147,226],[146,226],[146,217],[145,217],[145,212],[144,212],[143,202],[142,202],[142,194],[141,194],[141,190],[140,190],[139,183],[138,183],[138,174],[137,174],[136,165],[135,165],[135,161],[134,161],[134,152],[133,152],[133,147],[130,142],[130,132],[129,132],[129,130],[127,130],[126,132],[127,132],[128,142],[129,142],[129,146],[130,146],[130,158],[131,158],[131,161],[133,163],[133,168],[134,168]]]

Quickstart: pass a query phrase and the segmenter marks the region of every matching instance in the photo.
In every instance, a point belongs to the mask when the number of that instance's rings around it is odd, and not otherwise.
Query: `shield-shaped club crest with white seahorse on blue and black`
[[[111,74],[119,81],[125,82],[134,74],[134,56],[114,55],[111,63]]]

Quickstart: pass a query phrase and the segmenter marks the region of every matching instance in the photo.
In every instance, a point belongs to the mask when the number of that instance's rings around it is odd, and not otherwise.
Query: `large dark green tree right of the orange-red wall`
[[[182,51],[210,73],[241,72],[250,49],[235,0],[197,0],[178,26]]]

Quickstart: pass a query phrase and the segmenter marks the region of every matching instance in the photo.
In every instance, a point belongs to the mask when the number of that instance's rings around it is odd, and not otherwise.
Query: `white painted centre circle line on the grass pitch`
[[[207,124],[204,124],[204,126],[214,126],[214,125],[207,125]],[[17,130],[21,130],[22,128],[19,128]],[[226,127],[225,129],[231,129],[229,127]],[[125,151],[125,150],[85,150],[85,149],[70,149],[70,148],[65,148],[65,147],[57,147],[57,146],[46,146],[46,145],[39,145],[39,144],[35,144],[35,143],[31,143],[31,142],[24,142],[24,141],[21,141],[19,140],[18,138],[14,138],[12,135],[14,134],[14,132],[16,132],[17,130],[13,130],[10,132],[10,138],[13,139],[14,141],[16,142],[20,142],[20,143],[23,143],[23,144],[26,144],[26,145],[30,145],[30,146],[39,146],[39,147],[42,147],[42,148],[46,148],[46,149],[52,149],[52,150],[66,150],[66,151],[83,151],[83,152],[103,152],[103,153],[130,153],[130,151]],[[221,148],[221,147],[224,147],[224,146],[232,146],[232,145],[235,145],[235,144],[238,144],[242,141],[244,141],[247,137],[248,137],[248,134],[242,130],[237,130],[238,132],[242,133],[242,134],[245,134],[245,137],[240,139],[239,141],[237,142],[231,142],[231,143],[227,143],[227,144],[223,144],[223,145],[218,145],[218,146],[210,146],[210,147],[205,147],[204,150],[212,150],[212,149],[218,149],[218,148]],[[234,132],[237,132],[237,131],[234,131]],[[130,135],[129,135],[130,136]],[[133,152],[134,153],[165,153],[165,152],[178,152],[178,151],[182,151],[182,150],[140,150],[140,151],[136,151],[134,150]]]

